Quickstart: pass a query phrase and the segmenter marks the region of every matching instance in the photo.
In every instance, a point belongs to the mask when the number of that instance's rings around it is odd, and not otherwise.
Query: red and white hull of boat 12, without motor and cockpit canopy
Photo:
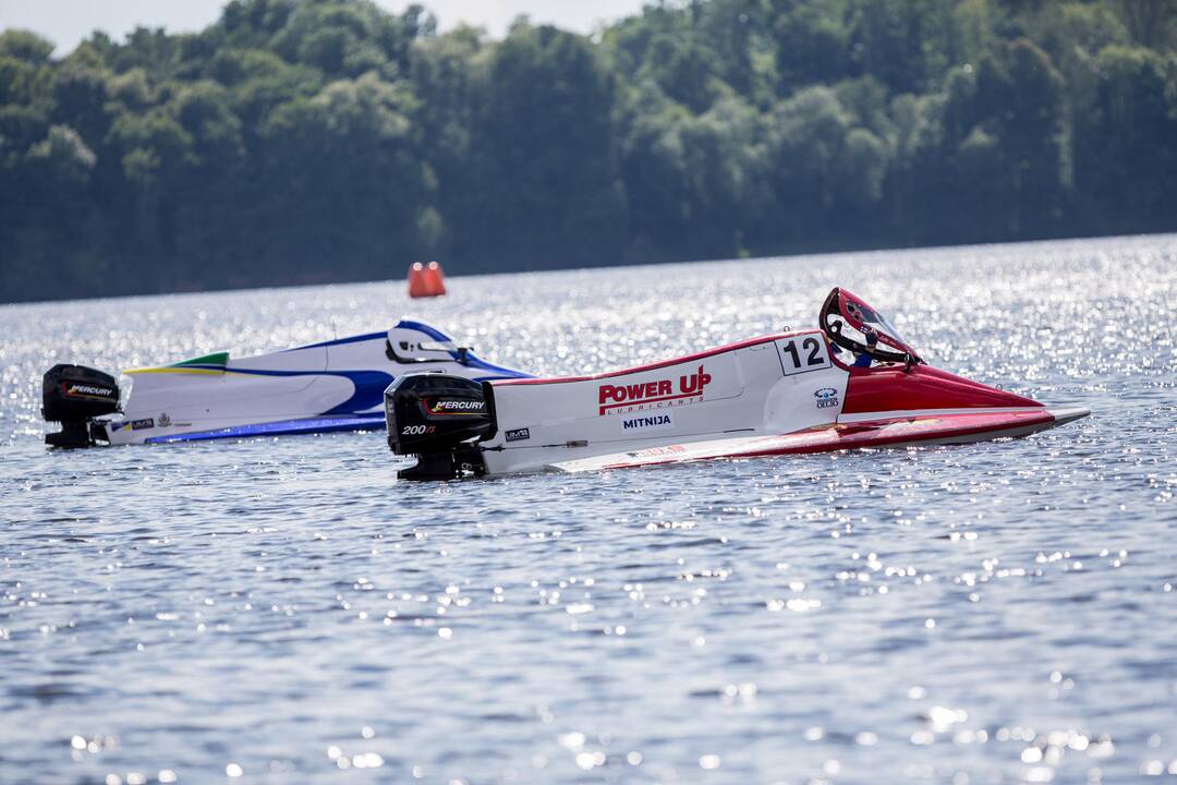
[[[1085,415],[926,365],[852,367],[820,331],[593,377],[488,385],[487,474],[1024,437]]]

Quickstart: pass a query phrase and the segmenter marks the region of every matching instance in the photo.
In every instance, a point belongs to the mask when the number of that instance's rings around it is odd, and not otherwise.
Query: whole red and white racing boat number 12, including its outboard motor
[[[385,392],[406,479],[578,472],[1024,437],[1085,417],[924,362],[843,288],[819,327],[591,377],[408,374]]]

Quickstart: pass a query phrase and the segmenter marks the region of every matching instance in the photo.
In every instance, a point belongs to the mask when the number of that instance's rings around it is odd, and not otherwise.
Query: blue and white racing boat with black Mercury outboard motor
[[[85,447],[384,428],[384,391],[410,371],[474,381],[528,378],[479,359],[435,327],[405,319],[387,332],[270,354],[217,352],[129,368],[124,371],[132,380],[126,400],[113,375],[56,365],[45,374],[42,415],[62,430],[45,440]]]

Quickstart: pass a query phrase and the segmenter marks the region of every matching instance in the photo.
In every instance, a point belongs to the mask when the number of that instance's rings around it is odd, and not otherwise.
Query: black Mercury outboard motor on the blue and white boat
[[[109,373],[84,365],[54,365],[41,381],[41,417],[60,423],[61,431],[46,433],[54,447],[91,447],[91,420],[119,411],[119,382]]]

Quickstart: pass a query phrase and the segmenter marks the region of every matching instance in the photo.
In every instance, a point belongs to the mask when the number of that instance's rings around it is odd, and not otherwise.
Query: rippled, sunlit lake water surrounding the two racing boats
[[[814,324],[1092,417],[410,485],[383,433],[51,453],[40,373],[434,320],[539,373]],[[0,780],[1177,776],[1177,237],[0,307]]]

